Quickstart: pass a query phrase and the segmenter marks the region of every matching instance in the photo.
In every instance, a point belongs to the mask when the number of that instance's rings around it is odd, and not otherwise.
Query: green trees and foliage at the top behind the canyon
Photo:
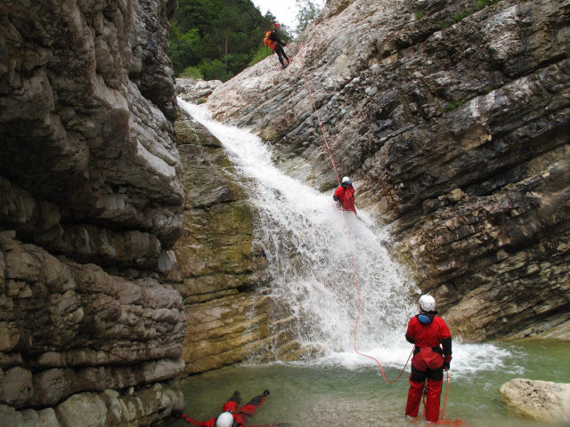
[[[175,75],[227,80],[260,60],[259,44],[273,29],[275,17],[265,16],[251,0],[178,0],[168,35],[168,55]],[[289,43],[289,28],[281,39]]]

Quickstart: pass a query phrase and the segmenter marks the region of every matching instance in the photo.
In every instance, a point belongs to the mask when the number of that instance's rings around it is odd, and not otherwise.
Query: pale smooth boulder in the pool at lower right
[[[515,378],[501,385],[509,410],[539,422],[570,423],[570,384]]]

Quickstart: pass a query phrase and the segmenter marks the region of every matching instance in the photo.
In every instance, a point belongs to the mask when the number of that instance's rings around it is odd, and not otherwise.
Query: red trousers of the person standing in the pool
[[[426,421],[436,422],[439,420],[439,401],[444,383],[444,356],[430,347],[422,347],[411,359],[406,415],[418,416],[419,402],[426,380],[428,380]]]

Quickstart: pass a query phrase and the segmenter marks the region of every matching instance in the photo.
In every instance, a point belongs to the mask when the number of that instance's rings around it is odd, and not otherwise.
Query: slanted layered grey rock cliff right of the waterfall
[[[331,0],[289,68],[270,57],[208,108],[331,189],[310,88],[338,173],[455,333],[567,339],[569,23],[568,0]]]

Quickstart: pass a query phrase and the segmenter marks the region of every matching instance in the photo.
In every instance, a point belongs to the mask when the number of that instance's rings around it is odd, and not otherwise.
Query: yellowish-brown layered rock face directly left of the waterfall
[[[203,96],[200,83],[182,83],[177,86],[184,87],[184,99]],[[288,327],[293,319],[283,318],[260,290],[268,278],[265,255],[254,243],[256,213],[240,186],[247,178],[204,126],[184,117],[175,129],[186,201],[177,266],[168,279],[184,298],[186,373],[244,359],[295,359],[299,344]]]

